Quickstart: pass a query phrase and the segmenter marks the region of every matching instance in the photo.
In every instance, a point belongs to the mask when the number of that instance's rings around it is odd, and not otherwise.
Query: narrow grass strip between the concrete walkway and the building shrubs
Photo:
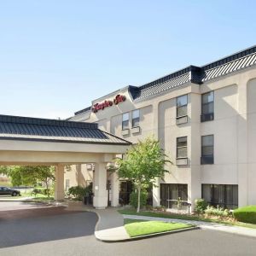
[[[176,214],[176,213],[169,213],[169,212],[136,212],[135,210],[119,210],[121,214],[128,214],[128,215],[139,215],[139,216],[148,216],[148,217],[157,217],[157,218],[177,218],[177,219],[187,219],[187,220],[198,220],[198,221],[206,221],[206,222],[213,222],[219,224],[229,224],[229,225],[236,225],[245,228],[256,229],[256,224],[247,224],[243,222],[232,222],[232,221],[224,221],[212,218],[203,218],[199,216],[192,216],[189,214]]]

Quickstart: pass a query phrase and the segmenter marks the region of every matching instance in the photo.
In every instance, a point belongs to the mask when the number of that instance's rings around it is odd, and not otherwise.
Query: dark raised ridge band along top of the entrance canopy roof
[[[38,119],[38,118],[20,117],[20,116],[3,115],[3,114],[0,114],[0,122],[26,124],[26,125],[48,125],[48,126],[57,126],[57,127],[84,128],[84,129],[98,128],[98,124],[96,123],[74,122],[74,121],[56,120],[56,119]]]

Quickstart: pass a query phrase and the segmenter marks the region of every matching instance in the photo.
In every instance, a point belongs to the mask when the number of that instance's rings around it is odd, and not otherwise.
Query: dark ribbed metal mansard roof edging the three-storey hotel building
[[[185,67],[177,72],[170,73],[160,79],[156,79],[141,86],[130,85],[128,90],[130,91],[131,98],[134,101],[139,101],[164,91],[177,89],[189,82],[203,84],[209,80],[217,79],[255,65],[256,45],[248,49],[243,49],[233,55],[228,55],[218,61],[213,61],[205,66]],[[86,111],[90,111],[90,107],[76,112],[75,115]]]

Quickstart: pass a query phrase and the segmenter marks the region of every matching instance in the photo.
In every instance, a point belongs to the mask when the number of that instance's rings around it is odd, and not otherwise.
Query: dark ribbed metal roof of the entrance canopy
[[[0,139],[59,143],[131,143],[98,129],[97,124],[0,115]]]

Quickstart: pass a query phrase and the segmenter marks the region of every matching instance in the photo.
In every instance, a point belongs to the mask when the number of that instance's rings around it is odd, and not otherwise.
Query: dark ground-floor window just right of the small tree
[[[188,185],[187,184],[160,184],[160,205],[175,208],[177,207],[178,197],[182,201],[188,201]],[[187,205],[183,203],[183,209],[186,209]]]

